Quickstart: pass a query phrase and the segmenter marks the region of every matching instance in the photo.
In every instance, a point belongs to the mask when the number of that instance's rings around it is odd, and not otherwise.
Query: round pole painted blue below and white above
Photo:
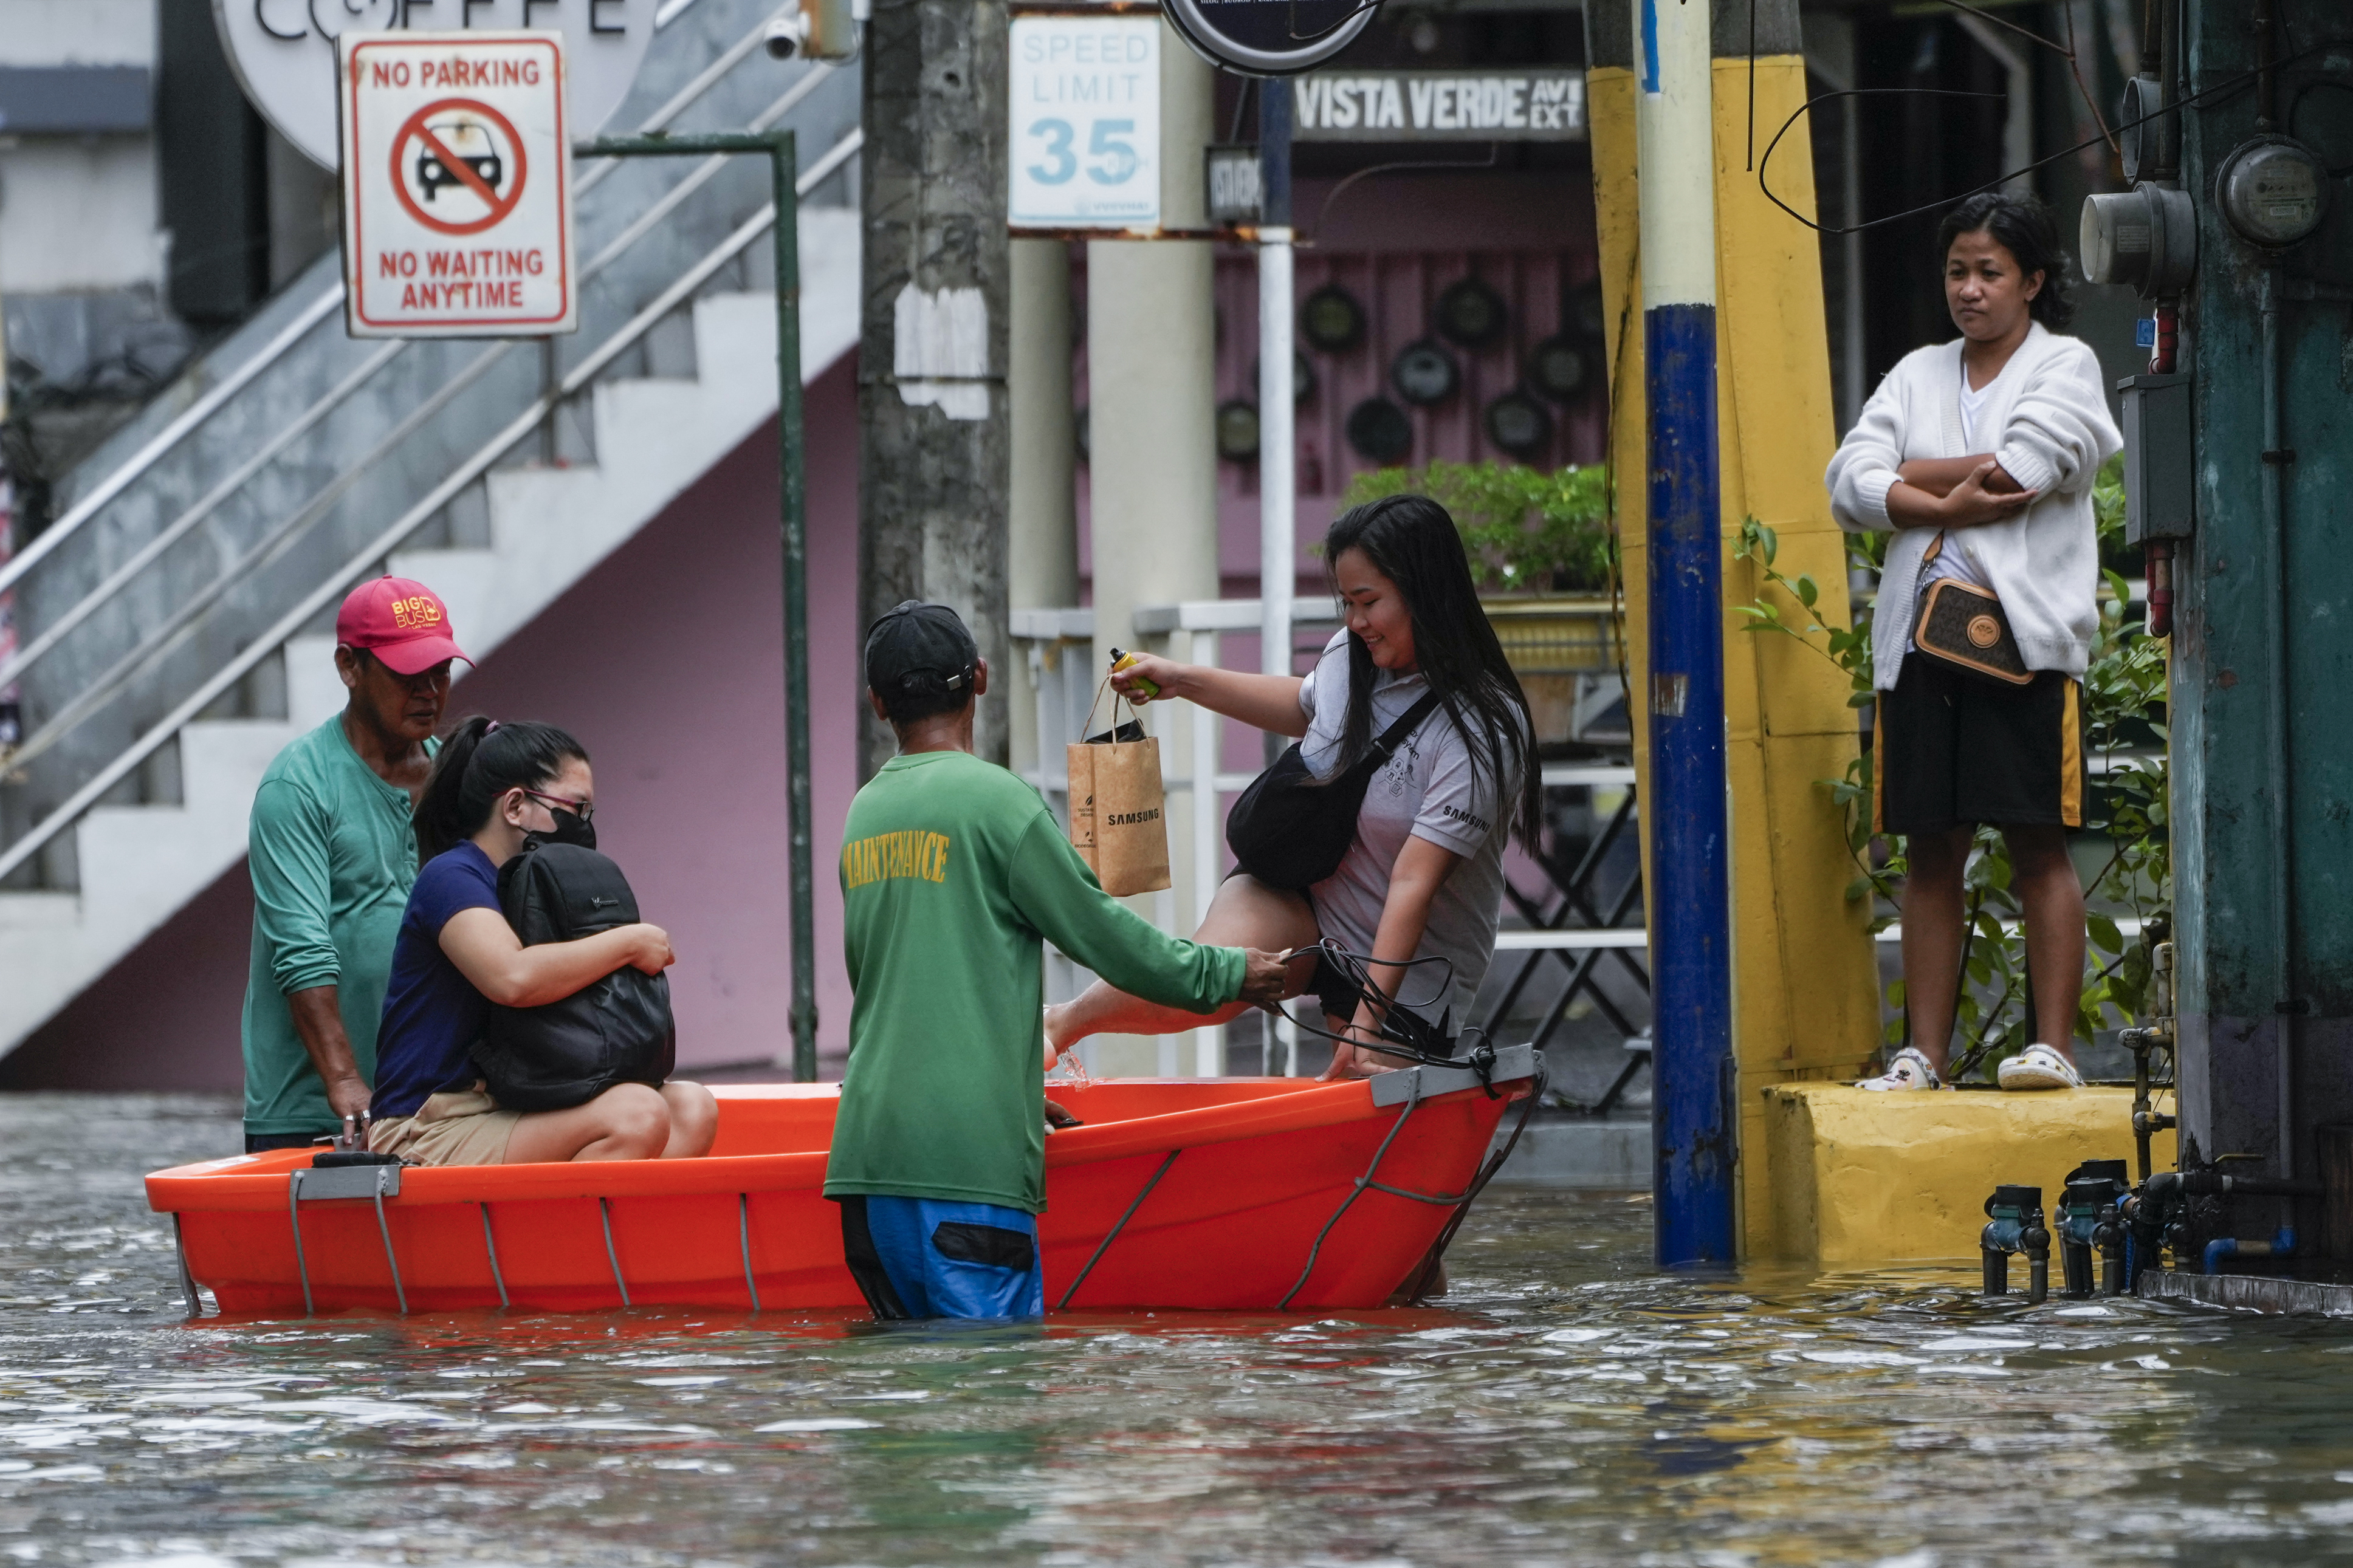
[[[1649,430],[1649,933],[1659,1262],[1732,1262],[1732,846],[1708,5],[1633,0]]]

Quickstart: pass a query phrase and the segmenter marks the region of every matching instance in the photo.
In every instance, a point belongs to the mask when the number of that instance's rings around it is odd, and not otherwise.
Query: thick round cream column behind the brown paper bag
[[[1160,223],[1200,228],[1212,75],[1162,24]],[[1217,322],[1205,240],[1087,244],[1089,501],[1094,543],[1094,672],[1111,649],[1134,649],[1139,604],[1217,597]],[[1151,724],[1169,776],[1191,771],[1191,724],[1160,710]],[[1139,912],[1191,929],[1188,813],[1169,816],[1172,893]],[[1176,1037],[1172,1037],[1176,1039]],[[1186,1053],[1191,1056],[1191,1053]],[[1106,1070],[1129,1065],[1106,1041]]]

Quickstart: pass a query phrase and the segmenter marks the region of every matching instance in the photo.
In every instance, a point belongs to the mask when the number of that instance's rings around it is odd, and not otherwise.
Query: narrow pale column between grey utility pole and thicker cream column
[[[1014,240],[1012,350],[1005,393],[1012,402],[1012,491],[1005,541],[1005,602],[1012,609],[1078,604],[1078,430],[1071,409],[1071,247],[1064,240]],[[1019,651],[1014,651],[1019,654]],[[1012,766],[1028,769],[1038,748],[1064,736],[1038,733],[1028,670],[1007,668],[998,691],[1012,719]]]

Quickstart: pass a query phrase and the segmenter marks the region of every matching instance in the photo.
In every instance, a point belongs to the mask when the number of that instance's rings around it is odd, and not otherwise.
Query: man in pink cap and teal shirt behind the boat
[[[278,752],[247,832],[247,1154],[308,1145],[367,1112],[393,938],[416,882],[409,806],[438,750],[449,661],[466,658],[440,595],[395,576],[351,590],[334,644],[351,701]]]

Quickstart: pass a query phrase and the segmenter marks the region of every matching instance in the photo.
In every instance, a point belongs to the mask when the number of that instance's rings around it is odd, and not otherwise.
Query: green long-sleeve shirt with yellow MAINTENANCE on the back
[[[972,752],[892,757],[842,830],[849,1070],[826,1197],[1045,1208],[1045,943],[1207,1013],[1240,947],[1160,933],[1104,893],[1038,792]]]

